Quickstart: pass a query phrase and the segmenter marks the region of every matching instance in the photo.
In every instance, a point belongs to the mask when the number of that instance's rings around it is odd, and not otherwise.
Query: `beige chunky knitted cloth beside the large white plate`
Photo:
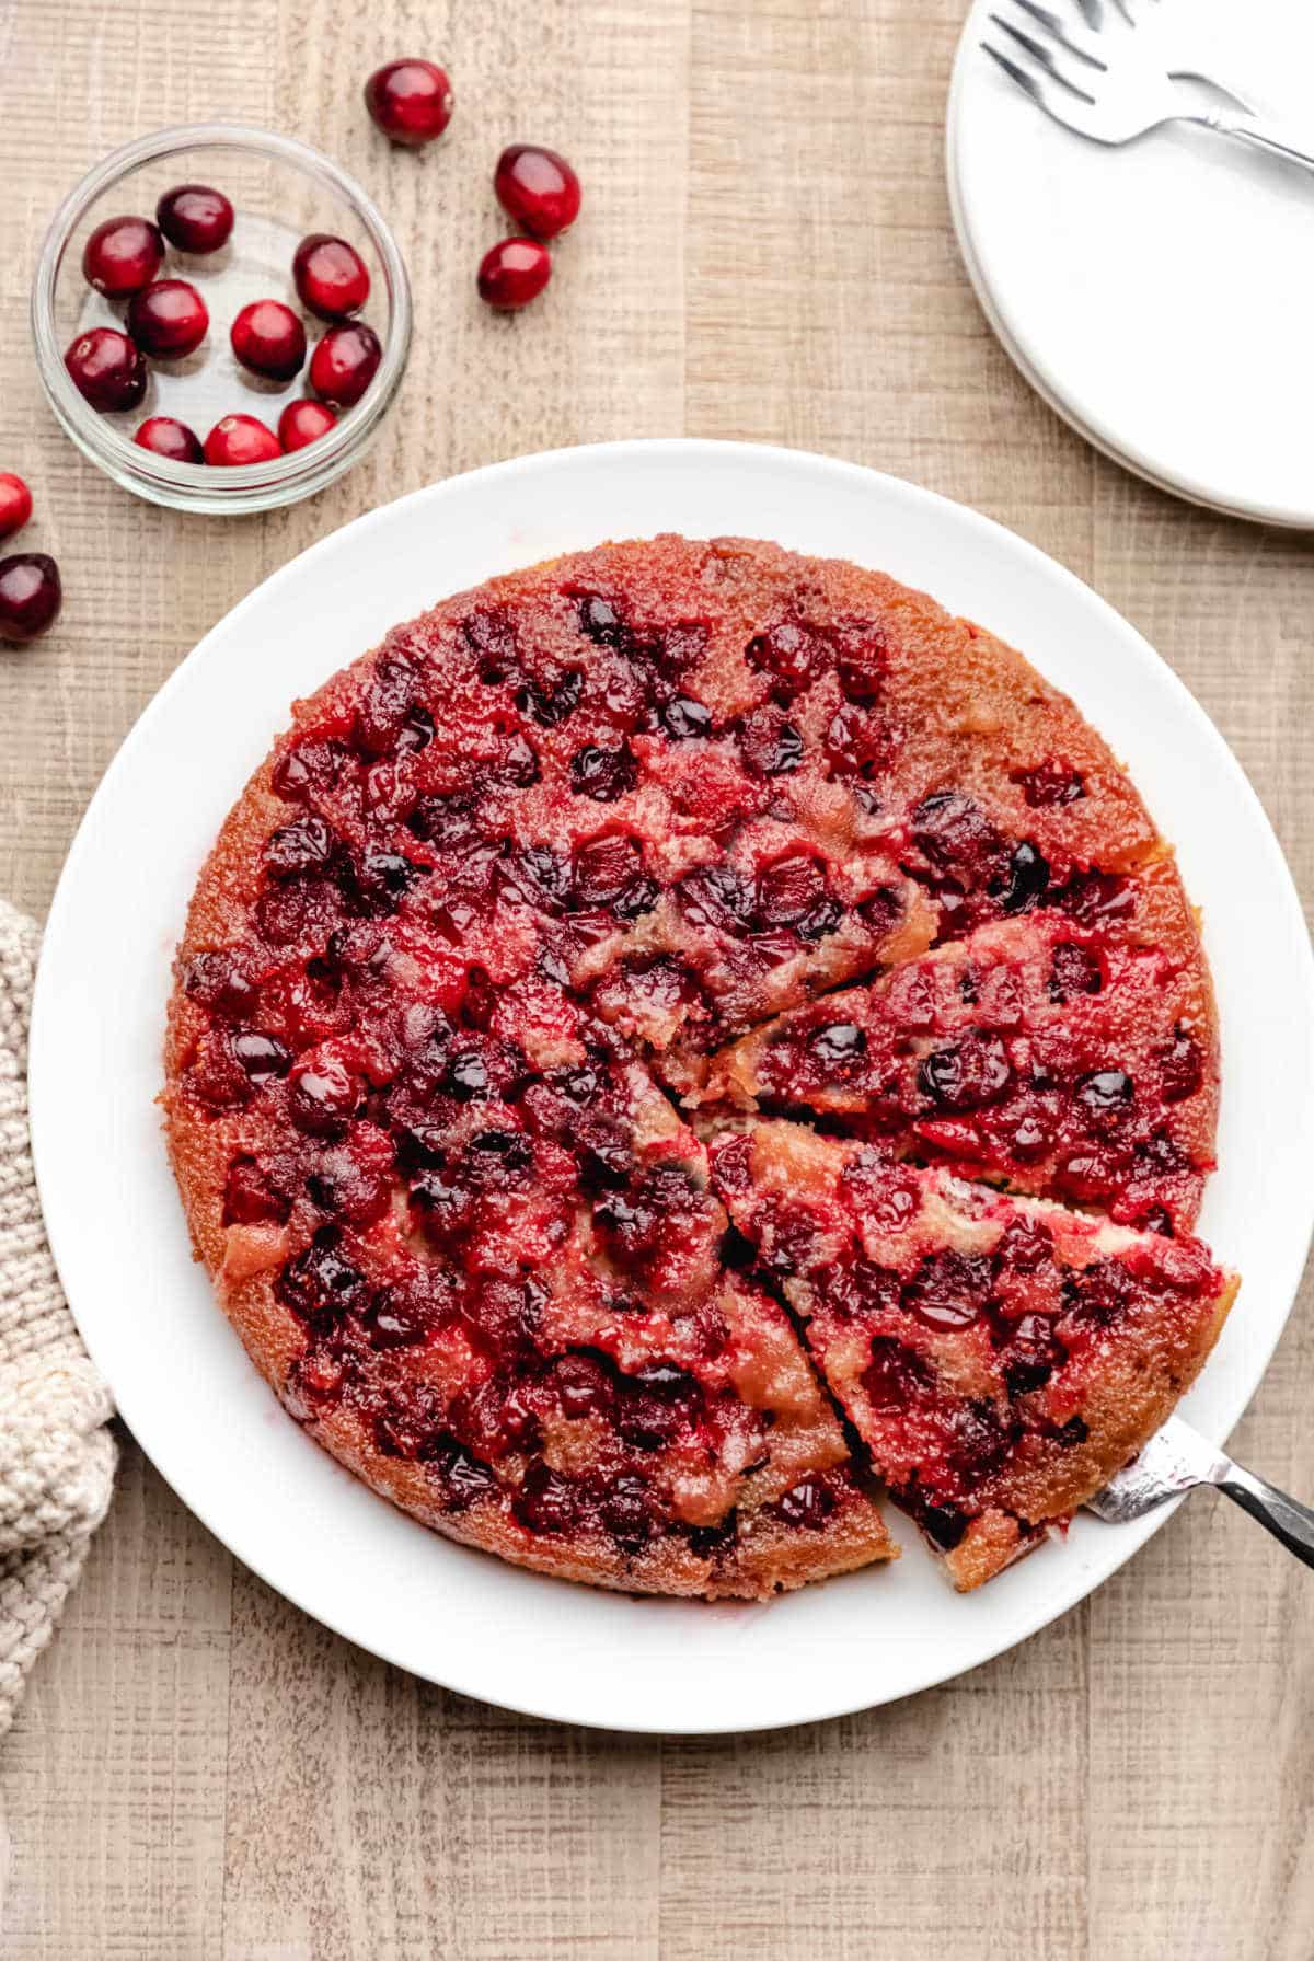
[[[27,1141],[37,928],[0,900],[0,1735],[104,1518],[114,1439],[55,1275]]]

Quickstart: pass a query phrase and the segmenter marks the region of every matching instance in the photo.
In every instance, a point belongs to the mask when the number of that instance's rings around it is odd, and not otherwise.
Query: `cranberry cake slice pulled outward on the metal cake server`
[[[796,1124],[722,1131],[714,1184],[890,1494],[971,1588],[1159,1428],[1236,1279],[1165,1239]]]

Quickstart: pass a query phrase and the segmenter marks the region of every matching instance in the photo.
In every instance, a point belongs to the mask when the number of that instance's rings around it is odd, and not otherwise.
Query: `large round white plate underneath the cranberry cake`
[[[341,1471],[259,1381],[192,1265],[153,1102],[196,875],[290,700],[443,594],[663,529],[857,559],[981,620],[1075,696],[1179,841],[1224,1043],[1202,1232],[1245,1275],[1187,1400],[1222,1439],[1283,1330],[1314,1214],[1314,959],[1290,875],[1222,737],[1126,620],[1000,526],[857,465],[692,441],[524,457],[359,518],[267,578],[161,688],[75,839],[37,977],[31,1122],[55,1259],[127,1426],[271,1586],[386,1661],[508,1708],[759,1730],[986,1661],[1108,1579],[1163,1514],[1081,1516],[967,1598],[902,1518],[892,1569],[763,1606],[630,1600],[451,1545]]]

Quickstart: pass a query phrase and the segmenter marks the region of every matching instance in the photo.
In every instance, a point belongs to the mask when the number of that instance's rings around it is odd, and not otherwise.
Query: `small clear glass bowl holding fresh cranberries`
[[[155,220],[155,204],[177,184],[214,184],[231,198],[235,224],[216,253],[167,249],[163,278],[192,280],[210,308],[210,331],[182,361],[147,361],[145,400],[98,414],[65,369],[65,349],[98,326],[124,326],[126,302],[106,300],[82,278],[82,247],[106,218],[127,212]],[[361,400],[314,443],[271,463],[239,469],[175,463],[133,443],[147,416],[177,416],[200,439],[220,416],[259,416],[275,427],[282,408],[308,394],[310,357],[290,382],[267,382],[235,359],[227,329],[249,300],[278,298],[306,322],[308,341],[326,322],[308,316],[292,282],[292,253],[308,231],[345,237],[371,275],[357,316],[382,343],[379,373]],[[365,453],[392,406],[410,349],[410,280],[392,231],[367,192],[335,163],[269,129],[192,124],[159,129],[116,149],[55,212],[31,286],[37,371],[55,416],[82,455],[106,477],[153,504],[194,512],[257,512],[296,504],[341,477]]]

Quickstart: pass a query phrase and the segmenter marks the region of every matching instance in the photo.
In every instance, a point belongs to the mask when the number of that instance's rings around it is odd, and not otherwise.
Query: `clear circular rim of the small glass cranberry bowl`
[[[200,469],[173,457],[157,457],[141,449],[118,427],[110,426],[75,388],[65,369],[63,349],[55,331],[55,282],[69,241],[86,212],[122,182],[131,171],[159,163],[180,151],[239,149],[277,163],[290,165],[316,178],[347,204],[369,231],[379,255],[388,290],[388,333],[382,341],[379,373],[357,404],[341,414],[328,435],[302,445],[269,463],[243,463],[226,469]],[[178,124],[133,137],[110,151],[69,192],[53,214],[31,282],[31,339],[37,353],[37,373],[57,420],[73,441],[110,477],[127,488],[175,508],[192,510],[259,510],[269,504],[292,502],[324,488],[341,475],[373,437],[388,410],[406,369],[412,331],[410,278],[400,247],[382,212],[369,192],[337,163],[302,143],[298,137],[259,129],[251,124],[208,122]]]

